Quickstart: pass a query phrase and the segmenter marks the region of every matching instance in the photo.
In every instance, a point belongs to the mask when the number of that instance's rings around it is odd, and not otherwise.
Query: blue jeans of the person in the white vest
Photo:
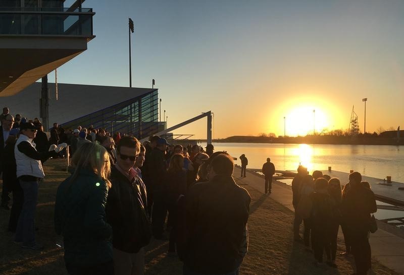
[[[18,219],[15,241],[23,242],[23,245],[34,245],[34,218],[38,199],[38,182],[20,180],[20,185],[24,191],[24,204]]]

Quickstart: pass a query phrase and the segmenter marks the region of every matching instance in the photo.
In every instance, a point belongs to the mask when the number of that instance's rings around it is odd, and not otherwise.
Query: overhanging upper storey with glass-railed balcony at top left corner
[[[92,9],[76,1],[0,0],[0,97],[15,95],[87,49]]]

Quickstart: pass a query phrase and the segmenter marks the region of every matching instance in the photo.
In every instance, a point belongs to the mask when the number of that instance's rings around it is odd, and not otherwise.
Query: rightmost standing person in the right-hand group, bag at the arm
[[[362,175],[359,172],[349,174],[351,188],[342,198],[341,204],[358,275],[367,274],[371,267],[368,232],[371,214],[377,211],[375,194],[361,181]]]

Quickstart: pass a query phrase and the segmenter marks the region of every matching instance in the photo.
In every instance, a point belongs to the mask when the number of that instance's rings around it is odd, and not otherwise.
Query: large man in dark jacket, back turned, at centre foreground
[[[251,198],[238,186],[228,154],[215,156],[209,181],[193,185],[186,195],[186,239],[183,274],[238,274],[247,251]]]

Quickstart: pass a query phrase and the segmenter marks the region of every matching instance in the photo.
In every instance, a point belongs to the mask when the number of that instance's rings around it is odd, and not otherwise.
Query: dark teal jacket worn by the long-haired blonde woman
[[[56,195],[55,228],[64,238],[65,262],[92,266],[112,260],[112,228],[106,222],[107,183],[92,171],[63,181]]]

